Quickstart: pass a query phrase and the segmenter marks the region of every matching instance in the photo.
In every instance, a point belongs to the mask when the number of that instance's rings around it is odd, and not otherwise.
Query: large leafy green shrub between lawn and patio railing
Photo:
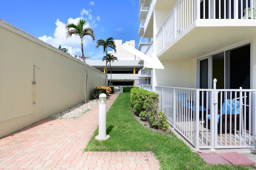
[[[158,111],[159,96],[139,88],[131,89],[130,102],[134,113],[142,120],[147,120],[157,129],[166,130],[169,127],[167,118],[162,111]]]

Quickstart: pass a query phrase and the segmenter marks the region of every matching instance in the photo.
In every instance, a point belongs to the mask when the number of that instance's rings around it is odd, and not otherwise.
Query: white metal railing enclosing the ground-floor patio
[[[155,92],[170,125],[196,150],[256,147],[256,90],[215,84],[214,89],[156,86]]]

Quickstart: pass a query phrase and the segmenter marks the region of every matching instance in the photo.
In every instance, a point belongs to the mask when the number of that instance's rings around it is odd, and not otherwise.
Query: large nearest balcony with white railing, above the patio
[[[256,36],[256,20],[250,17],[253,0],[210,2],[177,1],[158,28],[155,53],[160,60],[192,59]],[[147,18],[145,32],[146,23]]]

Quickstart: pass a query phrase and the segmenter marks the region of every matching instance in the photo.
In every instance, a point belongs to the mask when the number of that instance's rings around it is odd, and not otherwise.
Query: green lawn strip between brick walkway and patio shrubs
[[[106,141],[97,141],[98,128],[84,151],[152,151],[161,169],[251,169],[250,166],[208,165],[180,139],[142,126],[132,114],[130,93],[120,93],[107,112]]]

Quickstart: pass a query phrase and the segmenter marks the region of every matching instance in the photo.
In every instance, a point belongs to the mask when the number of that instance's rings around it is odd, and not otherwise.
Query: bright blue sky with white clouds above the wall
[[[66,23],[77,23],[81,17],[86,27],[94,30],[96,40],[113,37],[135,40],[138,49],[139,0],[0,0],[0,19],[54,47],[72,47],[72,54],[81,55],[80,38],[66,39]],[[100,46],[95,48],[90,36],[83,39],[84,54],[90,59],[102,59]],[[112,51],[112,49],[109,49]]]

